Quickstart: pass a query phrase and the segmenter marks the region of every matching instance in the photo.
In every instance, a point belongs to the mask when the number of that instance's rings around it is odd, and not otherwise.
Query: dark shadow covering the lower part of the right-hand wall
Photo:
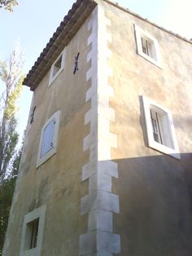
[[[113,160],[120,196],[114,232],[121,254],[129,256],[192,255],[192,153],[181,161],[162,155]]]

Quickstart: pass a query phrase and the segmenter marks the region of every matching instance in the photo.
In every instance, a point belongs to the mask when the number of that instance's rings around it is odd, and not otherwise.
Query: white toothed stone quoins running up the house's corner
[[[118,166],[111,161],[111,148],[117,148],[117,135],[111,133],[111,121],[115,111],[110,108],[110,97],[114,90],[108,85],[112,70],[108,66],[111,51],[107,42],[111,34],[107,31],[111,20],[105,16],[103,7],[94,9],[89,20],[91,29],[87,45],[91,51],[87,62],[91,67],[86,81],[91,86],[86,92],[86,101],[91,108],[85,113],[85,125],[90,124],[89,135],[84,139],[83,150],[89,150],[89,162],[83,166],[82,182],[89,179],[89,194],[81,198],[81,214],[88,214],[88,231],[80,236],[79,255],[112,256],[120,254],[120,235],[113,233],[113,213],[120,212],[119,196],[111,192],[112,177],[118,178]],[[103,72],[105,70],[105,72]]]

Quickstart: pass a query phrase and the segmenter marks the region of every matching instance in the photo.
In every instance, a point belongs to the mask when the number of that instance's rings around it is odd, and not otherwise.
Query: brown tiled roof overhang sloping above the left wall
[[[72,5],[72,9],[68,11],[68,15],[64,17],[58,29],[50,38],[50,42],[47,43],[41,55],[28,72],[23,85],[29,86],[30,90],[36,89],[64,46],[68,45],[96,6],[97,2],[94,0],[77,0]]]

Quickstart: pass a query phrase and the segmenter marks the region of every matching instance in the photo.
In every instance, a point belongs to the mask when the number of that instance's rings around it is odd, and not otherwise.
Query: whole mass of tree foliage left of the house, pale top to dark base
[[[15,46],[10,59],[0,62],[0,255],[20,165],[21,149],[19,152],[15,149],[19,139],[16,131],[16,103],[24,79],[21,73],[23,59]]]

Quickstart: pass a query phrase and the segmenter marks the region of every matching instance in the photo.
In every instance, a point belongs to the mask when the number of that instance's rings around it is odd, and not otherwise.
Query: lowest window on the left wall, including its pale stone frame
[[[20,256],[41,255],[45,214],[46,205],[42,205],[24,216]]]

